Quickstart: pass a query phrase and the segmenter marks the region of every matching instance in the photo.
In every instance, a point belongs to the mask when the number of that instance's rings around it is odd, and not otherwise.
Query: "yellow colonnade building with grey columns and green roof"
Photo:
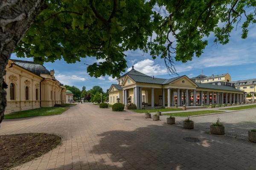
[[[118,78],[117,83],[117,85],[111,85],[108,92],[111,105],[117,102],[117,98],[120,98],[120,102],[126,105],[128,96],[138,109],[172,107],[175,103],[177,106],[196,106],[244,101],[244,92],[231,85],[198,83],[186,75],[172,79],[160,79],[140,73],[134,67]]]

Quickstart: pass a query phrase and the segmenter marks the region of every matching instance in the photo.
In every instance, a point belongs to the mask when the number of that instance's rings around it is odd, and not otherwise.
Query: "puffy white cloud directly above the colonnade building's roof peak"
[[[137,71],[140,71],[148,76],[168,74],[166,67],[160,66],[158,64],[154,64],[154,61],[151,59],[144,59],[140,62],[137,62],[134,65],[134,69]],[[131,70],[131,67],[128,68],[127,71],[130,71],[130,70]]]

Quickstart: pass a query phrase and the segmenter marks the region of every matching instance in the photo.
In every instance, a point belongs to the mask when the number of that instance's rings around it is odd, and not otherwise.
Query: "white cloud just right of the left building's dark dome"
[[[84,82],[87,78],[76,75],[57,74],[55,78],[64,85],[74,85],[73,82]]]

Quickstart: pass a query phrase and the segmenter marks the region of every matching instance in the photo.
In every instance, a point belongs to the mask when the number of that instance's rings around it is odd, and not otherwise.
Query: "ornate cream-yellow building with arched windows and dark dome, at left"
[[[65,86],[43,65],[10,59],[4,79],[9,86],[5,114],[66,103]]]

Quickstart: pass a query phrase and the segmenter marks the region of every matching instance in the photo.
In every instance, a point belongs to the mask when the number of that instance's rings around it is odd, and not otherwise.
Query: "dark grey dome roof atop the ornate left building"
[[[40,76],[40,74],[50,74],[50,72],[44,67],[44,65],[35,64],[35,62],[32,61],[23,61],[18,59],[11,60],[20,67],[25,68],[31,71],[32,73],[37,74],[38,76]]]

